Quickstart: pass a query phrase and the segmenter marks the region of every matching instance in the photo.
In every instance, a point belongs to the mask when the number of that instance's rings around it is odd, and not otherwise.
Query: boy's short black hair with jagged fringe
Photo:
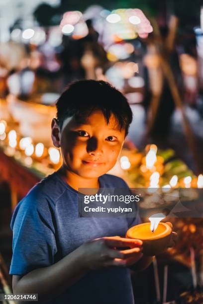
[[[132,122],[132,111],[125,96],[103,80],[71,83],[59,97],[56,107],[60,129],[66,118],[74,116],[76,121],[83,122],[94,110],[102,111],[107,124],[113,114],[119,130],[125,129],[125,136]]]

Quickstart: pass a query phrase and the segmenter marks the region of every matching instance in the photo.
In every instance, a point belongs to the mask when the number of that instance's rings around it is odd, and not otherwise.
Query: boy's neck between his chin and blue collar
[[[64,166],[58,169],[58,173],[65,180],[69,186],[78,191],[78,188],[100,188],[100,183],[98,177],[86,178],[77,175],[74,172],[67,170]]]

